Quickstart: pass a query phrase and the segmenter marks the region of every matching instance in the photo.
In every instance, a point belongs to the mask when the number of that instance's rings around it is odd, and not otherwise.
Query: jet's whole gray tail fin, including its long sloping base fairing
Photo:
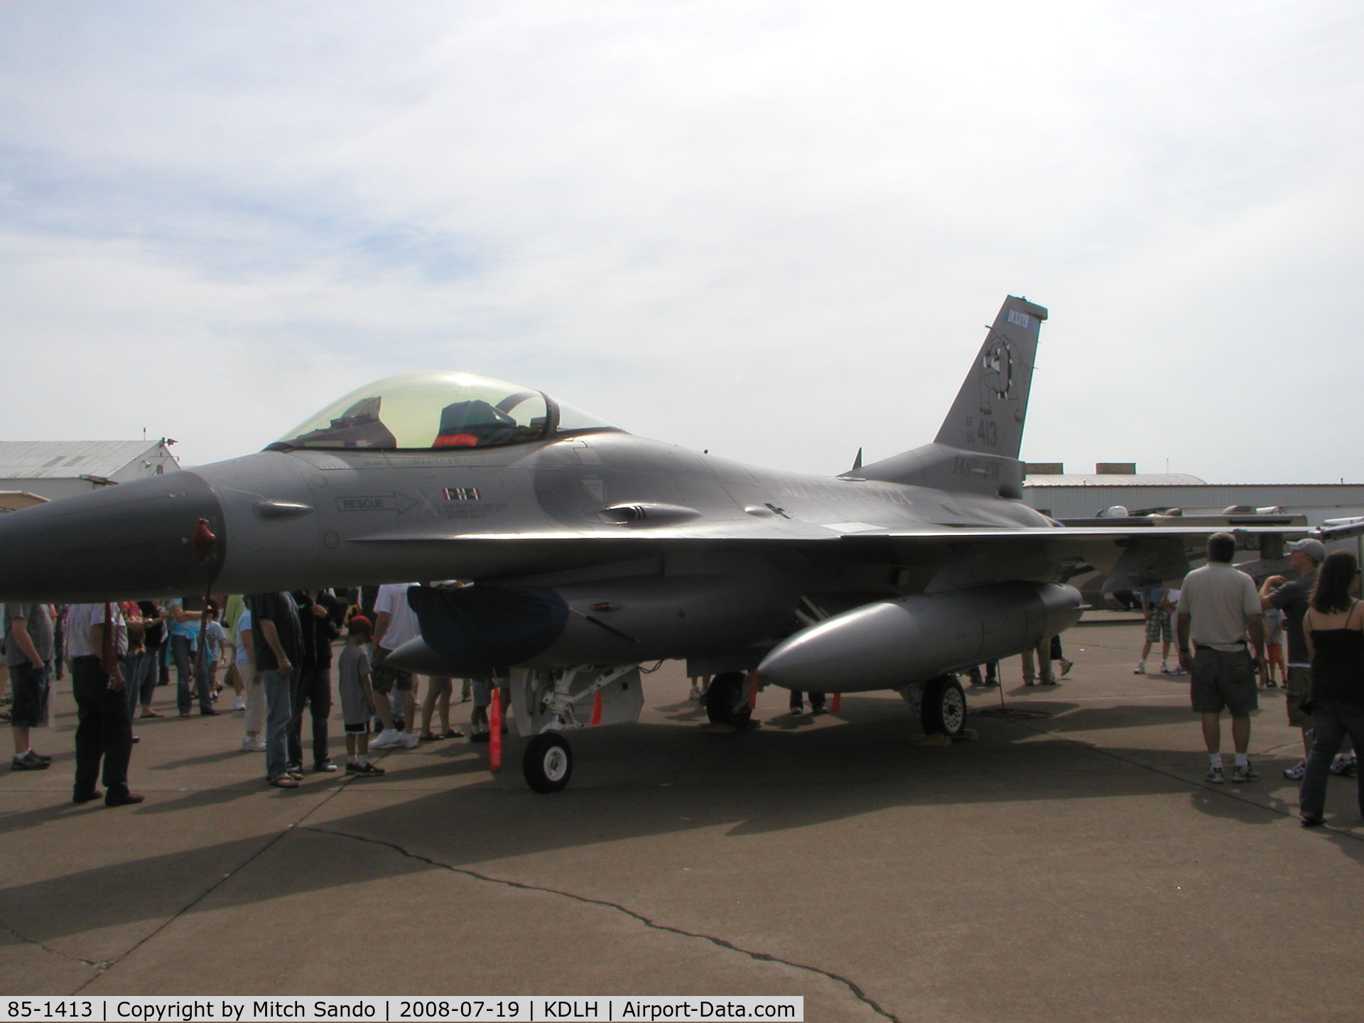
[[[844,475],[1022,498],[1018,458],[1043,319],[1041,306],[1007,297],[934,442]]]

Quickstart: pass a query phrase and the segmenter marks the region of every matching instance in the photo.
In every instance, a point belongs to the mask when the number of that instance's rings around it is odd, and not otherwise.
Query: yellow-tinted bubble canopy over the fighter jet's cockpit
[[[408,372],[351,391],[271,447],[496,447],[615,428],[506,381],[468,372]]]

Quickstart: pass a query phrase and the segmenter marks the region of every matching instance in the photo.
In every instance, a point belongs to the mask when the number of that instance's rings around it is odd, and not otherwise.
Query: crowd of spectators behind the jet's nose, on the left
[[[406,602],[409,585],[415,584],[214,596],[201,606],[186,600],[5,604],[8,709],[0,713],[14,738],[11,769],[50,767],[52,757],[33,747],[33,732],[48,722],[52,683],[68,668],[78,717],[72,791],[78,803],[142,802],[128,788],[138,742],[134,722],[166,716],[153,707],[153,697],[158,686],[169,685],[172,668],[181,717],[222,713],[220,697],[232,692],[233,711],[243,712],[241,750],[265,753],[266,782],[278,788],[300,784],[306,760],[315,772],[341,769],[329,753],[333,693],[341,704],[348,775],[382,775],[383,768],[370,760],[374,749],[464,738],[450,726],[453,679],[428,679],[419,711],[416,677],[389,663],[393,651],[419,634]],[[492,689],[490,679],[464,679],[460,687],[458,698],[475,704],[473,742],[490,738]],[[503,701],[507,696],[503,689]],[[435,719],[439,731],[432,731]],[[371,739],[371,732],[378,734]]]

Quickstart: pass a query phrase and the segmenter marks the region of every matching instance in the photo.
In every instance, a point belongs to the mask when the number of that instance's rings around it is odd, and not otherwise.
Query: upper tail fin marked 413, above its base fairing
[[[1033,386],[1037,337],[1046,310],[1012,295],[1000,307],[994,326],[943,420],[936,443],[963,451],[1018,458],[1023,419]]]

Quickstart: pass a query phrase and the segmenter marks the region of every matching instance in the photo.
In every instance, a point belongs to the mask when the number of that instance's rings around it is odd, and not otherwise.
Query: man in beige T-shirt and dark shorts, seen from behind
[[[1189,702],[1203,717],[1203,742],[1207,746],[1207,780],[1221,784],[1222,708],[1232,717],[1232,741],[1236,743],[1233,782],[1254,782],[1259,772],[1251,767],[1251,711],[1256,698],[1256,666],[1264,660],[1264,614],[1255,582],[1232,567],[1236,537],[1213,533],[1207,540],[1207,565],[1184,577],[1180,589],[1178,623],[1180,666],[1189,672]],[[1247,637],[1255,659],[1247,649]],[[1192,644],[1191,644],[1192,641]]]

